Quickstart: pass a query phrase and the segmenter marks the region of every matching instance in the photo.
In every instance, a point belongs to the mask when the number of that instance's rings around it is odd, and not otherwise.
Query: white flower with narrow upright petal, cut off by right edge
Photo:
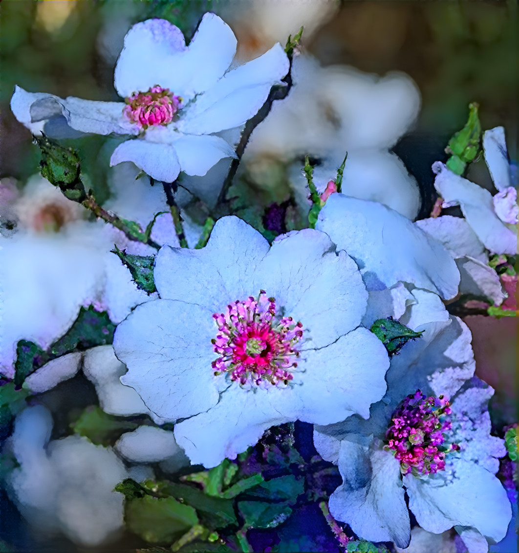
[[[512,186],[510,161],[503,127],[483,135],[483,151],[497,194],[464,179],[437,161],[435,187],[444,207],[459,205],[479,240],[491,253],[517,253],[517,192]]]

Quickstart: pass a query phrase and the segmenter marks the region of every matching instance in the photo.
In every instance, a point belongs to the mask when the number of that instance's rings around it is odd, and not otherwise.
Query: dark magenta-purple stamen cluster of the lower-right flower
[[[458,450],[447,445],[443,432],[451,430],[449,401],[440,395],[428,397],[417,390],[408,395],[393,412],[385,433],[386,451],[393,451],[403,474],[430,474],[445,468],[445,456]]]

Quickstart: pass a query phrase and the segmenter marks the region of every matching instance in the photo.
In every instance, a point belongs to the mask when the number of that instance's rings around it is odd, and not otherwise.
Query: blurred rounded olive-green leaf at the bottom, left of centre
[[[172,497],[145,495],[126,503],[125,521],[129,530],[146,541],[171,543],[198,524],[198,517],[193,507]]]

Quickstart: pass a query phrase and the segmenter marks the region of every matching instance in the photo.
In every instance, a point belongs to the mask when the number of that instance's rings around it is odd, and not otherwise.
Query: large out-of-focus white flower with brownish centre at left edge
[[[156,252],[103,221],[83,220],[86,210],[40,176],[29,180],[12,211],[16,232],[0,236],[0,372],[8,377],[19,340],[47,348],[81,306],[107,310],[117,323],[150,299],[110,252],[114,243],[137,255]]]

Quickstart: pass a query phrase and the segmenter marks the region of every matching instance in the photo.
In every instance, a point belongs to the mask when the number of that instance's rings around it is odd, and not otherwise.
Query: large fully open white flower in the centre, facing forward
[[[118,326],[114,349],[121,382],[165,421],[183,419],[174,434],[192,463],[235,458],[283,422],[368,416],[384,394],[385,348],[359,326],[361,274],[324,233],[270,247],[224,217],[203,249],[163,247],[155,283],[161,299]]]

